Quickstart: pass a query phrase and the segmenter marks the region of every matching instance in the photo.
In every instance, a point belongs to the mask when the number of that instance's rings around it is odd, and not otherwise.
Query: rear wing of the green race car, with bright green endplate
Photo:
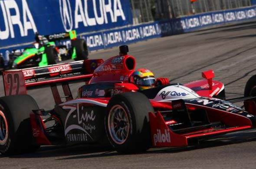
[[[76,31],[71,30],[69,32],[64,32],[64,33],[55,33],[52,35],[44,35],[48,41],[58,41],[58,40],[65,40],[65,39],[71,39],[74,40],[76,39]]]

